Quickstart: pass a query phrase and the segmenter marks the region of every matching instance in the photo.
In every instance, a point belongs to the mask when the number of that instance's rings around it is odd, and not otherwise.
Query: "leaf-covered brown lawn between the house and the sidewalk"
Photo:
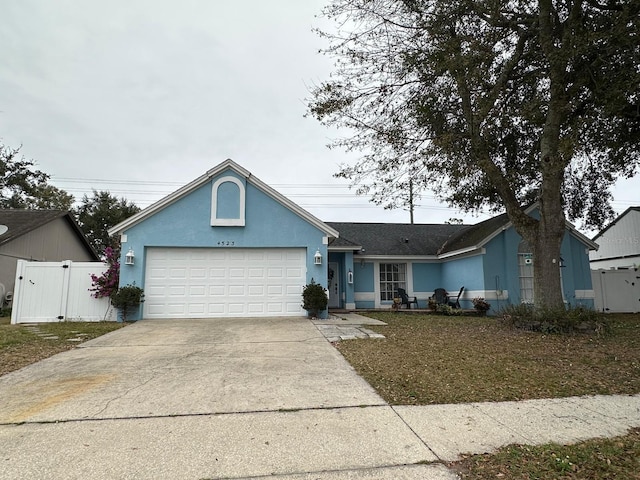
[[[374,316],[374,315],[372,315]],[[389,403],[442,404],[640,392],[640,316],[606,335],[544,335],[494,318],[375,314],[383,340],[337,348]]]

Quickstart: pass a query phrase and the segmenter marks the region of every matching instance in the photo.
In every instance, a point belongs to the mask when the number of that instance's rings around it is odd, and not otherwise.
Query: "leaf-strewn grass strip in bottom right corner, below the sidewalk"
[[[460,478],[473,480],[640,479],[640,429],[611,439],[577,445],[511,445],[449,465]]]

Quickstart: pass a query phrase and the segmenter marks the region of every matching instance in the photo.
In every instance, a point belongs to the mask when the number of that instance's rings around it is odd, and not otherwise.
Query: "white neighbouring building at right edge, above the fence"
[[[640,207],[627,208],[593,241],[599,247],[589,254],[593,270],[640,267]]]

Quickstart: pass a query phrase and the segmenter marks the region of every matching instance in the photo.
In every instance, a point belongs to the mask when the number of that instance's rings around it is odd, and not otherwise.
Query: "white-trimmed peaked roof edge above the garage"
[[[240,165],[238,165],[237,163],[235,163],[233,160],[230,160],[230,159],[227,159],[224,162],[220,163],[219,165],[213,167],[212,169],[207,171],[204,175],[201,175],[200,177],[186,184],[184,187],[181,187],[180,189],[160,199],[159,201],[150,205],[144,210],[129,217],[124,222],[121,222],[118,225],[112,227],[111,229],[109,229],[109,235],[122,233],[124,230],[143,222],[146,218],[154,215],[155,213],[163,210],[169,205],[172,205],[178,200],[186,197],[190,193],[194,192],[198,188],[210,182],[214,177],[217,177],[226,171],[235,172],[237,175],[244,178],[247,181],[247,183],[252,184],[258,190],[262,191],[264,194],[268,195],[269,197],[271,197],[272,199],[274,199],[275,201],[283,205],[285,208],[294,212],[296,215],[303,218],[308,223],[318,228],[320,231],[324,232],[325,235],[329,237],[338,236],[338,232],[335,231],[333,228],[331,228],[329,225],[322,222],[315,216],[311,215],[309,212],[307,212],[306,210],[304,210],[303,208],[301,208],[300,206],[298,206],[297,204],[289,200],[287,197],[285,197],[281,193],[274,190],[272,187],[264,183],[262,180],[258,179],[257,177],[254,177],[251,174],[251,172],[244,169],[243,167],[241,167]]]

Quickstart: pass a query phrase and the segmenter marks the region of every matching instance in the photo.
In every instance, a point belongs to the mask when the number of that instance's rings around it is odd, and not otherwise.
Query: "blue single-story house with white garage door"
[[[535,214],[532,209],[531,214]],[[145,292],[138,318],[304,315],[303,285],[330,308],[391,308],[397,289],[425,308],[436,288],[463,307],[533,298],[531,252],[506,215],[477,225],[323,222],[226,160],[109,231],[122,242],[120,284]],[[567,224],[563,294],[593,305],[589,250]]]

